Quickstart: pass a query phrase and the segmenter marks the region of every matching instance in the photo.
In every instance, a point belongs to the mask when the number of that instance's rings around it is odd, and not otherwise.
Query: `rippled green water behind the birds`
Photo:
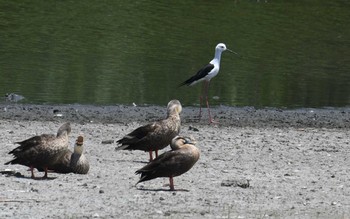
[[[0,0],[0,95],[30,103],[199,103],[177,85],[223,42],[211,105],[350,105],[350,2]]]

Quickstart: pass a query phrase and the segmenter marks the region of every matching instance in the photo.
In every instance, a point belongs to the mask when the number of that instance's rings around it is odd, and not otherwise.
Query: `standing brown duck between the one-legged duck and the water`
[[[142,150],[148,151],[150,160],[153,160],[152,151],[158,157],[161,150],[171,143],[171,140],[180,132],[180,113],[182,106],[180,101],[171,100],[167,106],[167,118],[141,126],[118,140],[121,146],[116,150]]]

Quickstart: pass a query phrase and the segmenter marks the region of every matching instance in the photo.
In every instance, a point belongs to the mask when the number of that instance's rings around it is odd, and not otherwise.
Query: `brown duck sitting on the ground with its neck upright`
[[[87,174],[90,169],[89,161],[83,154],[84,138],[79,136],[74,145],[74,152],[66,148],[65,153],[48,169],[56,173]]]

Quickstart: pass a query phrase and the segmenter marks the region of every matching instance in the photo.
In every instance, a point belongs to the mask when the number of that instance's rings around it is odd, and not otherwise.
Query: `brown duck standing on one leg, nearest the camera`
[[[136,171],[136,174],[141,174],[137,183],[158,177],[169,177],[170,190],[174,190],[173,177],[186,173],[199,159],[200,152],[195,144],[194,139],[175,137],[171,142],[171,151],[161,154]]]

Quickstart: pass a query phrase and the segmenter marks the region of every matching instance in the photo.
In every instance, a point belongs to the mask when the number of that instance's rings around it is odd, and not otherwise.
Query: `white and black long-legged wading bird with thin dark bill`
[[[213,60],[209,62],[208,65],[204,66],[202,69],[200,69],[197,74],[192,76],[191,78],[187,79],[186,81],[182,82],[179,86],[187,85],[187,86],[192,86],[195,85],[201,81],[204,81],[203,83],[203,90],[202,94],[200,96],[200,109],[199,109],[199,118],[201,117],[202,113],[202,101],[203,98],[205,98],[207,108],[208,108],[208,114],[209,114],[209,123],[214,123],[214,120],[212,119],[210,115],[210,108],[209,108],[209,103],[208,103],[208,88],[209,88],[209,82],[210,80],[215,77],[220,70],[220,59],[221,59],[221,53],[223,51],[229,51],[232,53],[237,54],[236,52],[228,49],[225,44],[219,43],[215,47],[215,57]],[[237,54],[238,55],[238,54]]]

